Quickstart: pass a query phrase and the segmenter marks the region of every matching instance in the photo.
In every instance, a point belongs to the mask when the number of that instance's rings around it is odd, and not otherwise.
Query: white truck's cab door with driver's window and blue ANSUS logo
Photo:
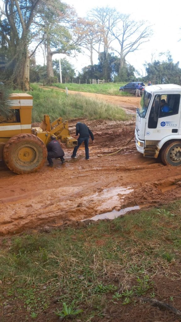
[[[163,111],[161,100],[165,100],[167,111]],[[180,94],[155,95],[145,126],[145,140],[160,141],[169,135],[176,135],[180,123]]]

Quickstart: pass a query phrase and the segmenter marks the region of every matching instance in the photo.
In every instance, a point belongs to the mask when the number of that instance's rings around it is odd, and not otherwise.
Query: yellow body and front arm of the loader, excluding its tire
[[[10,109],[12,116],[5,119],[0,116],[0,160],[3,158],[5,143],[12,137],[21,133],[30,133],[39,137],[47,146],[51,136],[60,139],[66,147],[77,146],[77,140],[70,136],[68,122],[62,118],[50,122],[50,117],[44,115],[40,127],[32,128],[33,96],[26,93],[14,93],[10,96]]]

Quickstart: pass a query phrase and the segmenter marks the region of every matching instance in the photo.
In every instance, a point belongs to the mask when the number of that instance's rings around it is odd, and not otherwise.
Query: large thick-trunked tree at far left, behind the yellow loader
[[[1,67],[6,75],[11,75],[14,86],[22,90],[30,90],[29,60],[37,46],[29,54],[28,45],[36,32],[32,31],[33,19],[41,4],[41,0],[4,0],[1,8],[1,43],[6,48]]]

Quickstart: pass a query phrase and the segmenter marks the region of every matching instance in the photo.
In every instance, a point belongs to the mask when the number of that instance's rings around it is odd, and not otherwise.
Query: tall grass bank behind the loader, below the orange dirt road
[[[44,114],[51,120],[60,116],[63,119],[88,118],[126,120],[128,116],[120,107],[96,99],[83,97],[79,94],[69,95],[57,90],[44,90],[33,84],[33,115],[32,122],[40,122]]]

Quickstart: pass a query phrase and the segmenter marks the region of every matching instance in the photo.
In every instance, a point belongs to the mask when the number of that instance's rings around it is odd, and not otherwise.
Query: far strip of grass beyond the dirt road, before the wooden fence
[[[68,90],[75,90],[78,92],[88,92],[88,93],[97,93],[97,94],[106,94],[106,95],[117,95],[117,96],[130,96],[128,92],[119,92],[119,87],[125,85],[126,83],[106,83],[106,84],[59,84],[54,83],[53,86],[62,88],[65,90],[65,86]]]

